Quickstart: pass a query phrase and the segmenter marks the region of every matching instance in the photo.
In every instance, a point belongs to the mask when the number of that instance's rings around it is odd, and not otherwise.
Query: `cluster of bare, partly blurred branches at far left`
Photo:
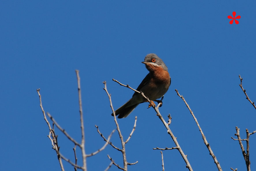
[[[46,115],[45,115],[45,111],[43,109],[42,106],[42,99],[41,99],[41,94],[39,93],[40,89],[37,89],[37,93],[39,96],[39,100],[40,100],[40,107],[42,110],[42,113],[44,115],[44,120],[46,121],[46,124],[48,125],[49,128],[49,135],[48,138],[51,140],[52,143],[52,148],[56,151],[57,154],[57,158],[59,160],[59,164],[61,167],[61,170],[64,171],[64,167],[63,167],[63,163],[62,160],[66,160],[68,163],[70,163],[72,166],[74,166],[74,170],[76,171],[77,168],[78,169],[82,169],[83,171],[87,171],[87,165],[86,165],[86,158],[87,157],[91,157],[93,155],[98,154],[100,151],[104,150],[105,147],[109,144],[110,138],[112,136],[112,134],[114,133],[115,130],[113,130],[111,132],[111,134],[108,136],[107,139],[105,139],[106,143],[104,144],[104,146],[100,149],[98,149],[97,151],[95,151],[94,153],[91,154],[86,154],[85,153],[85,132],[84,132],[84,124],[83,124],[83,109],[82,109],[82,98],[81,98],[81,86],[80,86],[80,77],[79,77],[79,71],[76,70],[76,77],[77,77],[77,83],[78,83],[78,96],[79,96],[79,113],[80,113],[80,122],[81,122],[81,134],[82,134],[82,140],[81,143],[78,143],[74,138],[72,138],[67,132],[66,130],[64,130],[58,123],[57,121],[55,121],[55,119],[50,115],[50,113],[46,113],[48,115],[48,117],[51,119],[51,121],[53,122],[52,126],[49,123]],[[55,134],[55,130],[54,130],[54,125],[57,126],[57,128],[70,140],[74,143],[74,158],[75,158],[75,162],[72,162],[70,159],[68,159],[67,157],[65,157],[64,155],[62,155],[59,151],[59,145],[58,145],[58,141],[57,141],[57,135]],[[98,129],[98,128],[97,128]],[[135,129],[135,128],[134,128]],[[82,153],[82,161],[83,161],[83,166],[79,166],[77,165],[77,157],[76,157],[76,146],[78,146],[81,149],[81,153]],[[113,162],[111,161],[110,165],[106,168],[106,170],[108,170],[111,165],[113,164]]]

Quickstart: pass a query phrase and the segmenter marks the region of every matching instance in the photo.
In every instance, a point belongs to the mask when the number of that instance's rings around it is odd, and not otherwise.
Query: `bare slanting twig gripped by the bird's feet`
[[[131,88],[129,85],[124,85],[124,84],[120,83],[119,81],[117,81],[117,80],[115,80],[115,79],[113,79],[113,81],[119,83],[120,85],[122,85],[122,86],[124,86],[124,87],[130,88],[131,90],[133,90],[133,91],[135,91],[135,92],[140,93],[145,99],[147,99],[148,102],[150,102],[150,99],[147,98],[147,97],[143,94],[143,92],[139,92],[139,91],[137,91],[137,90]],[[110,97],[110,96],[109,96],[109,97]],[[163,99],[163,97],[161,98],[161,100],[162,100],[162,99]],[[178,143],[176,137],[175,137],[174,134],[171,132],[171,129],[169,128],[169,125],[165,122],[164,118],[163,118],[162,115],[160,114],[160,112],[159,112],[159,110],[158,110],[158,107],[159,107],[159,106],[160,106],[160,103],[158,104],[158,106],[152,106],[152,107],[153,107],[154,110],[156,111],[156,113],[157,113],[156,115],[159,117],[159,119],[162,121],[162,123],[164,124],[165,128],[167,129],[167,133],[168,133],[168,134],[171,136],[171,138],[173,139],[173,141],[174,141],[174,143],[175,143],[177,149],[179,150],[179,152],[180,152],[182,158],[183,158],[184,161],[186,162],[186,167],[188,168],[188,170],[193,171],[193,169],[192,169],[192,167],[191,167],[191,165],[190,165],[190,163],[189,163],[189,161],[188,161],[188,159],[187,159],[187,156],[186,156],[186,155],[184,154],[184,152],[182,151],[182,149],[181,149],[181,147],[180,147],[180,145],[179,145],[179,143]],[[114,112],[114,109],[113,109],[113,112]],[[113,113],[113,114],[114,114],[114,116],[115,116],[115,113]]]

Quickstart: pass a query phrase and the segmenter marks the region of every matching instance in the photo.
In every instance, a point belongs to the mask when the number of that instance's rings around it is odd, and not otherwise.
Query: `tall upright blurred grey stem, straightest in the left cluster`
[[[77,85],[78,85],[78,97],[79,97],[79,113],[80,113],[80,121],[81,121],[81,134],[82,134],[82,140],[81,140],[81,151],[82,151],[82,157],[83,157],[83,170],[87,170],[86,166],[86,153],[85,153],[85,130],[84,130],[84,123],[83,123],[83,108],[82,108],[82,96],[81,96],[81,86],[80,86],[80,76],[79,71],[76,70],[76,78],[77,78]]]

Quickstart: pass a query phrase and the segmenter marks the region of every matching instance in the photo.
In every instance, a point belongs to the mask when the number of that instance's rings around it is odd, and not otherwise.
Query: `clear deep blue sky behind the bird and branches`
[[[223,170],[246,170],[237,141],[240,128],[255,128],[255,1],[1,1],[0,2],[0,170],[60,170],[47,138],[48,128],[36,92],[40,88],[45,111],[80,141],[75,69],[80,71],[85,119],[86,152],[102,147],[115,129],[108,97],[117,109],[133,92],[112,81],[137,88],[148,73],[145,55],[156,53],[171,75],[160,113],[172,116],[171,130],[188,155],[193,170],[216,170],[201,134],[184,102],[193,110]],[[229,24],[235,11],[239,24]],[[161,170],[160,151],[174,147],[153,109],[140,104],[119,119],[128,138],[128,170]],[[74,159],[71,142],[59,131],[60,151]],[[111,141],[121,147],[117,132]],[[251,170],[256,168],[256,137],[250,137]],[[80,155],[79,152],[77,152]],[[104,170],[109,154],[122,165],[122,155],[110,146],[87,160],[88,170]],[[177,150],[163,151],[166,170],[188,170]],[[73,167],[65,161],[66,170]],[[81,159],[78,161],[81,164]],[[110,170],[118,170],[112,166]]]

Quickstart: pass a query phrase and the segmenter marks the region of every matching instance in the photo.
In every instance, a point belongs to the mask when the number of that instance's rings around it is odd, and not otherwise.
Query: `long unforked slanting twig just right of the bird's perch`
[[[192,115],[193,118],[195,119],[195,122],[197,123],[197,126],[198,126],[198,128],[199,128],[199,131],[200,131],[201,134],[202,134],[202,138],[203,138],[204,144],[206,145],[207,149],[209,150],[210,155],[212,156],[212,158],[213,158],[213,160],[214,160],[214,163],[216,164],[218,170],[219,170],[219,171],[222,171],[221,165],[220,165],[220,163],[218,162],[216,156],[214,155],[214,153],[213,153],[213,151],[212,151],[212,149],[211,149],[211,147],[210,147],[210,144],[207,142],[206,137],[205,137],[205,135],[203,134],[203,131],[202,131],[202,129],[201,129],[201,127],[200,127],[200,125],[199,125],[199,123],[198,123],[198,121],[197,121],[197,118],[195,117],[195,115],[194,115],[194,113],[193,113],[193,111],[190,109],[190,107],[189,107],[188,103],[186,102],[186,100],[184,99],[184,97],[179,94],[178,90],[175,89],[175,91],[176,91],[177,95],[178,95],[180,98],[182,98],[182,100],[183,100],[184,103],[186,104],[188,110],[190,111],[191,115]]]

